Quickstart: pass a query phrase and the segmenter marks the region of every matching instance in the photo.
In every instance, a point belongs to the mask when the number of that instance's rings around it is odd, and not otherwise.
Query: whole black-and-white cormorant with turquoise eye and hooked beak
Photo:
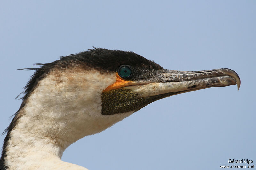
[[[72,143],[99,133],[149,103],[180,93],[237,84],[230,69],[176,71],[134,52],[89,49],[41,65],[5,130],[2,170],[85,170],[61,161]]]

